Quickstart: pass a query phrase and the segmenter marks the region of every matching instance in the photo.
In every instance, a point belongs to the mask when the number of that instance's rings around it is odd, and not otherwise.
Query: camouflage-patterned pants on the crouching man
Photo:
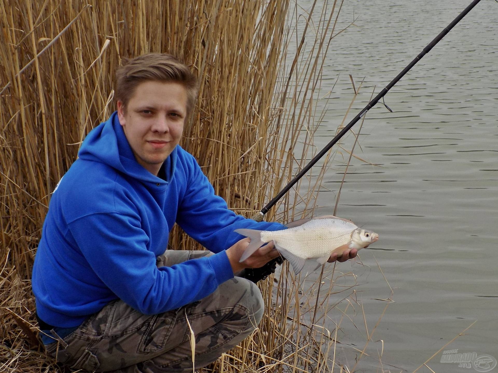
[[[157,266],[172,266],[209,253],[167,250],[157,258]],[[261,320],[263,308],[257,286],[235,277],[200,301],[152,316],[135,311],[122,300],[113,301],[46,349],[73,370],[192,372],[187,318],[195,334],[195,369],[199,369],[248,337]]]

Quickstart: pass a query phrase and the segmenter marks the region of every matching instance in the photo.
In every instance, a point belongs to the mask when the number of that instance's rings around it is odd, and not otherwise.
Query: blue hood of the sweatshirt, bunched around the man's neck
[[[175,170],[178,146],[171,152],[161,166],[165,180],[145,170],[137,161],[129,146],[123,127],[115,111],[111,117],[95,127],[87,135],[78,152],[78,158],[104,163],[134,179],[149,183],[167,183],[171,181]]]

